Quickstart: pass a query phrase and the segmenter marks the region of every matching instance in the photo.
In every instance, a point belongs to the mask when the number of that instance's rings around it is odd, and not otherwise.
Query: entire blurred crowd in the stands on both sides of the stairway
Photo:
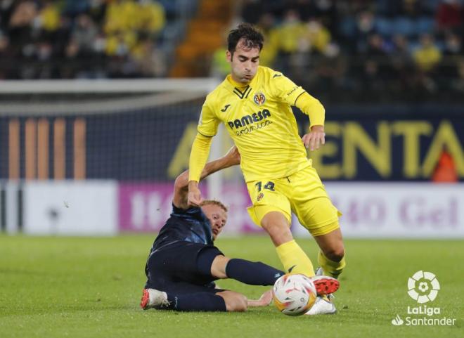
[[[177,20],[167,6],[187,3],[0,0],[0,79],[165,77],[174,53],[163,48],[162,32]],[[266,35],[262,65],[285,72],[318,98],[463,96],[463,0],[238,4],[237,21],[254,23]],[[222,77],[224,62],[222,49],[212,74]]]

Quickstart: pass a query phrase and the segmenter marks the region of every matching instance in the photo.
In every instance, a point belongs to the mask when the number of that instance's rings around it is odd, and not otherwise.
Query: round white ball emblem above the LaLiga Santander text
[[[408,279],[409,297],[419,304],[433,301],[437,298],[438,290],[440,290],[440,283],[431,272],[420,270]]]

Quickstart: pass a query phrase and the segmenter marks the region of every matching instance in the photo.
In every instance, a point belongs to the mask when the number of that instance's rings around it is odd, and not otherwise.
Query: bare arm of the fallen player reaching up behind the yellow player
[[[240,164],[240,153],[238,152],[236,146],[234,145],[226,155],[220,157],[217,160],[208,162],[203,168],[200,174],[200,181],[211,174],[214,174],[216,171],[221,169],[226,169],[234,165]],[[189,171],[183,171],[182,174],[177,176],[174,183],[174,197],[172,202],[176,207],[181,209],[188,208],[188,193],[190,182],[188,181]]]

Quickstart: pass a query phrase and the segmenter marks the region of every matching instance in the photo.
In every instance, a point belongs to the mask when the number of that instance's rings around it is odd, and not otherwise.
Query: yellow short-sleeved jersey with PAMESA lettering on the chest
[[[290,176],[311,166],[291,109],[302,93],[301,86],[267,67],[258,67],[247,85],[236,84],[229,74],[207,96],[198,133],[214,136],[224,123],[246,182]]]

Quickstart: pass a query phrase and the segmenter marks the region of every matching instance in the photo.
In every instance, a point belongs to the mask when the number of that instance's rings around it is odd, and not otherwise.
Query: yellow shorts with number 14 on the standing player
[[[258,226],[264,215],[277,211],[283,213],[289,223],[293,212],[313,236],[325,235],[339,228],[338,217],[342,214],[330,202],[313,167],[306,167],[288,177],[247,182],[247,189],[253,203],[248,213]]]

